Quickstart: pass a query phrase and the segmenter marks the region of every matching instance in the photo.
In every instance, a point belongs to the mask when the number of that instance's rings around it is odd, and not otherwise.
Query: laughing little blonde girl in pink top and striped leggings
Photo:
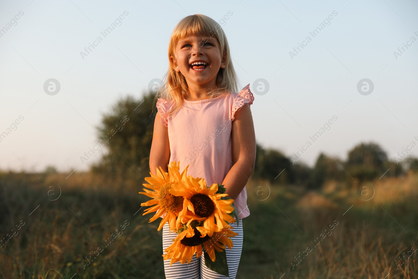
[[[229,276],[207,268],[204,256],[190,264],[164,261],[167,279],[235,278],[242,251],[242,218],[250,215],[245,184],[255,162],[255,133],[250,105],[250,84],[237,92],[227,38],[222,28],[205,15],[189,15],[174,28],[168,44],[169,67],[165,86],[158,93],[150,171],[180,161],[181,171],[221,183],[234,199],[240,222],[234,247],[226,249]],[[163,227],[163,253],[176,237]],[[207,255],[206,255],[207,256]],[[203,259],[202,259],[203,258]],[[209,259],[209,257],[208,257]],[[209,259],[210,260],[210,259]]]

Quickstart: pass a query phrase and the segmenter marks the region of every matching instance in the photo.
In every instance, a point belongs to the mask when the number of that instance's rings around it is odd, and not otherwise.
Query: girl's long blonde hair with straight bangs
[[[159,97],[174,102],[173,108],[167,113],[175,113],[183,102],[183,96],[189,94],[189,87],[186,79],[181,72],[176,71],[171,57],[176,57],[176,45],[179,40],[188,36],[210,36],[218,40],[222,57],[224,58],[225,68],[220,68],[216,87],[208,92],[209,98],[222,95],[226,91],[238,92],[238,79],[232,65],[232,59],[229,55],[229,45],[227,37],[221,26],[206,15],[189,15],[180,20],[171,33],[170,42],[168,43],[168,72],[164,77],[163,85],[157,92],[155,100]],[[200,45],[199,45],[200,46]]]

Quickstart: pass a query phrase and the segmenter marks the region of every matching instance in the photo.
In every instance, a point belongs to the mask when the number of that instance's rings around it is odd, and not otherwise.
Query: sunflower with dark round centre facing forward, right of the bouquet
[[[224,227],[229,228],[225,220],[229,223],[235,222],[227,214],[234,211],[231,206],[234,200],[221,200],[228,194],[215,194],[217,191],[218,184],[214,183],[208,188],[204,179],[192,176],[183,177],[179,184],[173,185],[168,192],[175,197],[184,197],[183,209],[178,213],[176,226],[180,223],[189,225],[193,220],[204,220],[203,226],[196,227],[201,237],[212,237],[214,232],[219,232]]]

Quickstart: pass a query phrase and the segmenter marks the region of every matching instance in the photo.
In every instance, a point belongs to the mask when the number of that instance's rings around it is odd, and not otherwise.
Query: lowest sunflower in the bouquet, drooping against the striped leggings
[[[166,248],[166,254],[163,255],[163,258],[164,260],[171,259],[170,266],[177,261],[180,261],[181,264],[187,261],[187,264],[190,264],[195,253],[198,258],[202,255],[202,245],[210,259],[215,261],[214,250],[222,252],[226,249],[225,245],[231,249],[233,245],[230,237],[238,235],[232,230],[223,228],[219,233],[215,232],[212,237],[209,235],[202,236],[197,228],[199,227],[193,228],[192,226],[187,226],[187,229],[179,233],[173,239],[173,243]]]

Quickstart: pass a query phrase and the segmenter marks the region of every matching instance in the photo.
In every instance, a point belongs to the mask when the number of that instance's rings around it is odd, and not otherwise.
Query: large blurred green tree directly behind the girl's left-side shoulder
[[[132,96],[122,98],[110,113],[103,115],[98,139],[106,147],[107,154],[92,171],[112,177],[148,176],[155,120],[154,97],[148,93],[141,100]]]

